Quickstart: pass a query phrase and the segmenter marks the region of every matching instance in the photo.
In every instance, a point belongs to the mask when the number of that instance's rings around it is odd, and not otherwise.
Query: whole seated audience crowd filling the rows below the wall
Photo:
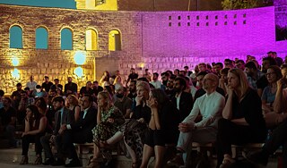
[[[78,89],[71,77],[63,87],[48,76],[39,85],[30,75],[11,97],[0,89],[0,137],[17,147],[15,132],[22,131],[20,164],[29,164],[29,144],[35,143],[34,164],[81,166],[74,144],[90,142],[87,167],[109,164],[118,147],[132,167],[146,168],[152,155],[156,168],[188,167],[187,153],[197,142],[215,144],[217,167],[236,163],[231,145],[248,143],[264,143],[246,155],[248,162],[266,165],[283,147],[287,167],[287,56],[268,52],[262,65],[248,55],[199,63],[194,71],[145,69],[143,76],[132,68],[124,79],[119,71],[104,71],[99,82]],[[168,162],[167,147],[176,151]]]

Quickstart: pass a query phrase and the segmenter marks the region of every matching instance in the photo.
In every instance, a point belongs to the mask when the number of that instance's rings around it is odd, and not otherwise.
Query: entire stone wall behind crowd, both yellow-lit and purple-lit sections
[[[14,24],[23,30],[22,49],[9,48],[9,28]],[[48,29],[48,50],[35,49],[35,30],[39,26]],[[73,31],[73,50],[60,49],[60,30],[65,27]],[[85,51],[85,30],[89,28],[98,32],[98,51]],[[121,33],[121,51],[108,49],[112,29]],[[73,76],[82,87],[86,80],[94,80],[94,77],[100,80],[105,70],[119,70],[127,76],[131,67],[142,74],[144,68],[162,72],[182,69],[185,65],[193,67],[201,62],[219,62],[227,57],[245,60],[246,55],[255,55],[260,59],[277,48],[280,48],[279,55],[287,53],[283,47],[286,43],[279,44],[274,39],[274,7],[152,13],[0,4],[0,88],[9,94],[17,82],[26,83],[30,74],[39,83],[45,75],[51,80],[58,78],[61,84],[65,84],[67,76]],[[76,51],[87,55],[86,63],[81,66],[83,79],[74,74],[78,66],[73,59]],[[20,71],[19,80],[11,75],[13,57],[20,60],[16,67]]]

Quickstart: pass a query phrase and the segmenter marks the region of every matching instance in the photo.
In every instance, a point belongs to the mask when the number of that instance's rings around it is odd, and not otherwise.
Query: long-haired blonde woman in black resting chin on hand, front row
[[[222,117],[217,133],[217,167],[221,168],[235,162],[230,156],[232,144],[264,142],[266,138],[261,99],[239,69],[228,72],[227,100]]]

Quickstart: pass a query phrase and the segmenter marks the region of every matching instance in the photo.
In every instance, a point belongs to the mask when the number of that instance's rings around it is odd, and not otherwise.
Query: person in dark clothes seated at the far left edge
[[[16,140],[14,136],[15,122],[16,122],[16,110],[11,106],[11,99],[9,97],[4,97],[3,105],[0,108],[0,118],[1,118],[1,132],[4,133],[4,138],[9,140],[10,147],[16,147]]]

